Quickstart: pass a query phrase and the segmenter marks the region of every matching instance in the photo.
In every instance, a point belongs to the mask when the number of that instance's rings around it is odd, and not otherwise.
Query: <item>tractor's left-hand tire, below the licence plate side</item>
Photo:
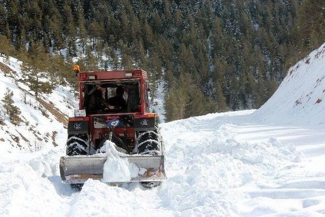
[[[68,135],[66,153],[68,156],[86,155],[89,151],[88,134]],[[83,184],[70,184],[72,189],[80,191]]]

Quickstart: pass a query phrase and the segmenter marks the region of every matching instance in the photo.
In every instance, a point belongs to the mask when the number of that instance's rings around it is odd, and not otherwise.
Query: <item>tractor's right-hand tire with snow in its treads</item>
[[[138,136],[139,154],[161,154],[161,136],[158,127],[154,131],[140,132]],[[160,181],[142,181],[145,188],[154,188],[160,185]]]

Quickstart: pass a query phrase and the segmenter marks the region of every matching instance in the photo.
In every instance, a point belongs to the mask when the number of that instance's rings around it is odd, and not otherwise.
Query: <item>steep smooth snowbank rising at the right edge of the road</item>
[[[274,95],[253,117],[267,122],[325,122],[325,44],[291,67]]]

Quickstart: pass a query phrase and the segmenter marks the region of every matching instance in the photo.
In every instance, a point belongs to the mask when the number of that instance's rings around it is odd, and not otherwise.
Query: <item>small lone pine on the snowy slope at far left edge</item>
[[[19,114],[20,109],[14,105],[14,100],[13,100],[14,93],[7,87],[7,91],[5,93],[4,99],[2,102],[4,103],[4,109],[10,119],[11,123],[14,123],[15,125],[21,121]]]

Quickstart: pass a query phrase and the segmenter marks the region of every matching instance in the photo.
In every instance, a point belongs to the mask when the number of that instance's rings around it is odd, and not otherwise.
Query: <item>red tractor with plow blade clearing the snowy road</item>
[[[123,153],[120,158],[141,168],[128,181],[139,181],[145,187],[158,185],[166,178],[164,143],[157,114],[149,111],[147,73],[126,70],[77,76],[79,109],[69,118],[67,156],[60,159],[61,179],[72,185],[88,178],[103,181],[108,157],[102,152],[110,140]]]

